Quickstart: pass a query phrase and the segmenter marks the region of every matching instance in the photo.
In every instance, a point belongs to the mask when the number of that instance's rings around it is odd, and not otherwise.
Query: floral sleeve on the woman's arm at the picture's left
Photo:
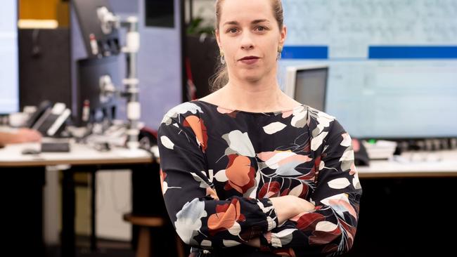
[[[178,235],[191,246],[221,249],[276,228],[269,199],[219,199],[213,171],[207,169],[207,129],[198,112],[190,103],[171,110],[158,133],[162,193]]]

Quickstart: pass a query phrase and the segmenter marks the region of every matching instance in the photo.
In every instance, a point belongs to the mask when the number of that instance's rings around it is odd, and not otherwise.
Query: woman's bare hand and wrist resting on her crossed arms
[[[273,203],[278,224],[282,224],[285,220],[297,216],[300,213],[314,210],[314,204],[311,204],[305,199],[295,197],[294,195],[285,195],[283,197],[270,198]]]

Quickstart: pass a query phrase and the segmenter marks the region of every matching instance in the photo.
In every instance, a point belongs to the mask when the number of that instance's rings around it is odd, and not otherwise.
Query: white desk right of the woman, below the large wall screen
[[[359,178],[455,177],[457,151],[406,152],[392,160],[358,166]]]

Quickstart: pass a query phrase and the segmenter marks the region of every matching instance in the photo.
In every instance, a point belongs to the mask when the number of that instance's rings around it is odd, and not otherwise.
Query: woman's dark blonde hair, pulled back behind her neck
[[[224,0],[217,0],[216,1],[216,24],[214,25],[214,29],[219,29],[219,23],[221,22],[221,5],[222,1]],[[281,0],[270,0],[272,7],[273,7],[273,16],[278,22],[279,30],[283,29],[284,23],[284,16],[283,16],[283,5],[281,4]],[[220,56],[219,56],[220,57]],[[227,65],[222,64],[221,62],[217,61],[219,65],[217,66],[217,72],[211,77],[210,79],[210,89],[211,91],[217,91],[219,88],[222,88],[228,83],[228,72],[227,72]]]

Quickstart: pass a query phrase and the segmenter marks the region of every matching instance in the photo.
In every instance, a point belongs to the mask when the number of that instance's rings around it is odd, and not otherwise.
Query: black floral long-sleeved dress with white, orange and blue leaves
[[[347,251],[361,197],[351,141],[334,117],[306,105],[269,113],[203,101],[174,107],[158,143],[176,232],[193,252],[212,256]],[[316,207],[278,224],[269,199],[283,195]],[[255,237],[260,249],[243,244]]]

